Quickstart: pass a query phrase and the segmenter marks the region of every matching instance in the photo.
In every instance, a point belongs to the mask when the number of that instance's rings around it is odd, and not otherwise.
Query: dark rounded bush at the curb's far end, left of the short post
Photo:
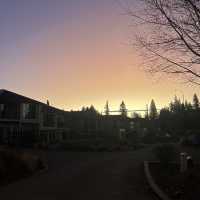
[[[160,163],[164,166],[174,161],[176,158],[176,148],[172,144],[160,144],[157,145],[153,152]]]

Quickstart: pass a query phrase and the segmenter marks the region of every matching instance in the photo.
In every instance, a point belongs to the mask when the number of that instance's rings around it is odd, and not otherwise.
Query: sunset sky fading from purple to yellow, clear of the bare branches
[[[124,1],[123,1],[124,2]],[[127,0],[137,8],[137,0]],[[126,4],[127,6],[128,4]],[[131,46],[134,28],[119,0],[0,0],[0,88],[65,110],[106,101],[117,110],[192,100],[199,87],[152,76]]]

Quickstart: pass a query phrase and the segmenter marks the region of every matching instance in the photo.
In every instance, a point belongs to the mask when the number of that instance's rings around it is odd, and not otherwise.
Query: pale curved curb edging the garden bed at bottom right
[[[149,170],[149,162],[144,161],[144,173],[147,178],[147,181],[153,190],[153,192],[161,199],[161,200],[171,200],[161,189],[160,187],[155,183],[150,170]]]

